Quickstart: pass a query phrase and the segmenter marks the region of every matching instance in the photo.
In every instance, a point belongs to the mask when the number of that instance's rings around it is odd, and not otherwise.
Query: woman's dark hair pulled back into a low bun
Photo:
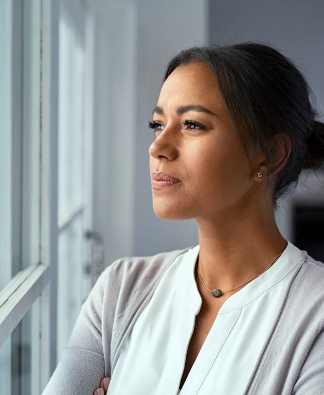
[[[323,164],[324,124],[314,119],[311,89],[289,59],[254,42],[193,47],[169,62],[164,80],[177,67],[196,61],[214,73],[244,149],[248,150],[246,130],[267,158],[270,172],[274,155],[269,142],[277,134],[289,138],[291,153],[276,175],[274,201],[297,184],[303,168]]]

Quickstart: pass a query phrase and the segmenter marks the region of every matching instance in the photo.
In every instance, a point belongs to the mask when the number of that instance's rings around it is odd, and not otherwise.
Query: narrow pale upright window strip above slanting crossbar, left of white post
[[[21,267],[40,261],[40,1],[24,6]],[[25,2],[24,2],[25,4]],[[25,4],[26,5],[26,4]]]

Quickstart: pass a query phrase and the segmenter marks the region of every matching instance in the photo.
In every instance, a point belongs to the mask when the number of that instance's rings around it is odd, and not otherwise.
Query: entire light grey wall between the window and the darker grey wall
[[[207,1],[96,0],[93,227],[105,265],[197,244],[193,221],[166,222],[152,209],[148,121],[167,60],[206,43]]]

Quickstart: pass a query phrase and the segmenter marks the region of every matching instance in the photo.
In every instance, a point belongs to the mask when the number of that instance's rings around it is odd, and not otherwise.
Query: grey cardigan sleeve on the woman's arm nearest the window
[[[91,395],[105,377],[102,313],[106,277],[107,269],[84,302],[68,347],[42,395]]]

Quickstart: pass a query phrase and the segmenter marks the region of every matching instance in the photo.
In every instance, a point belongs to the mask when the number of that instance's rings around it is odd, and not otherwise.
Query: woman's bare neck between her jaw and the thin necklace
[[[209,288],[232,289],[266,271],[283,252],[273,210],[198,219],[199,271]]]

